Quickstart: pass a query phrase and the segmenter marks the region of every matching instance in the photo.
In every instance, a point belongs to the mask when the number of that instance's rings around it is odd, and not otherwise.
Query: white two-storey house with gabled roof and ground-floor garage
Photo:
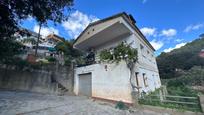
[[[155,49],[135,25],[131,15],[119,13],[90,23],[75,40],[74,47],[92,53],[92,63],[75,68],[74,92],[97,99],[123,101],[132,104],[132,91],[151,92],[161,86]],[[99,55],[104,49],[126,42],[138,52],[134,75],[124,61],[101,62]],[[93,55],[94,53],[94,55]],[[133,84],[135,87],[132,87]]]

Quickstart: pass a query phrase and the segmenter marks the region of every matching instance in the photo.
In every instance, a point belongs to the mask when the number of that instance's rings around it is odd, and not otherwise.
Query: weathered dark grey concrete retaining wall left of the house
[[[45,67],[32,71],[0,68],[0,88],[59,94],[58,82],[72,91],[72,71],[66,67],[57,69],[56,66],[52,66],[50,68],[52,69]]]

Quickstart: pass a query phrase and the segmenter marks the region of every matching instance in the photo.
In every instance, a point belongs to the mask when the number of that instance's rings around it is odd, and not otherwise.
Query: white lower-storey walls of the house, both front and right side
[[[135,71],[139,72],[140,92],[151,92],[161,86],[159,76],[152,76],[152,74],[158,73],[140,68],[137,65]],[[119,64],[101,63],[76,68],[74,78],[74,92],[76,95],[78,95],[79,75],[85,73],[92,74],[92,97],[133,103],[131,96],[132,88],[130,86],[130,70],[127,68],[125,62]],[[142,73],[146,73],[148,86],[144,85]],[[132,83],[136,86],[134,76]]]

